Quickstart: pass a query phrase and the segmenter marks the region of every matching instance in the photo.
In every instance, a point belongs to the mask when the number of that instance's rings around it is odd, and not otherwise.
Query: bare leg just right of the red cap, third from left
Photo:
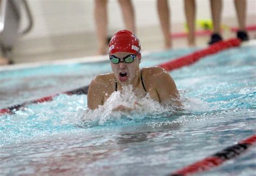
[[[161,29],[164,33],[165,48],[172,47],[171,28],[170,28],[170,11],[167,0],[157,0],[157,11],[160,19]]]

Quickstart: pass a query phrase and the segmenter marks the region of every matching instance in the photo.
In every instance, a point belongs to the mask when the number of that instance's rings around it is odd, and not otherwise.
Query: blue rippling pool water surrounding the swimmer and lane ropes
[[[165,175],[256,133],[255,46],[226,50],[170,72],[185,110],[142,100],[144,110],[86,111],[86,95],[61,94],[0,116],[0,175]],[[143,56],[154,66],[179,49]],[[0,108],[88,85],[109,62],[0,72]],[[113,98],[113,100],[116,100]],[[255,146],[202,175],[254,175]]]

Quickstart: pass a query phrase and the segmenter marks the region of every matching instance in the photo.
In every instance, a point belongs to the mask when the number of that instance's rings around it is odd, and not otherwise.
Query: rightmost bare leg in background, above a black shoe
[[[235,9],[237,10],[239,30],[246,29],[246,0],[234,0]]]

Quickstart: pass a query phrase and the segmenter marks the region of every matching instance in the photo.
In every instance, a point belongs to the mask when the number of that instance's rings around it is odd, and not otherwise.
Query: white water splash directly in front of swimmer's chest
[[[147,115],[151,117],[154,114],[166,112],[166,108],[157,101],[150,98],[149,93],[143,98],[138,98],[132,91],[132,85],[124,86],[122,93],[113,92],[105,101],[104,105],[99,105],[96,110],[87,110],[82,116],[83,121],[97,121],[103,125],[107,120],[119,120],[122,117],[128,119],[143,119]],[[113,111],[119,105],[132,109],[129,113],[122,111]],[[169,109],[170,111],[170,109]]]

